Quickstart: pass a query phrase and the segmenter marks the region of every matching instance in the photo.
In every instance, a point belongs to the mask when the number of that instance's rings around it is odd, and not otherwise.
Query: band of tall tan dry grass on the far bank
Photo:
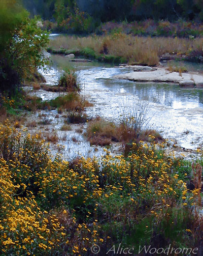
[[[111,55],[126,58],[129,63],[157,65],[163,53],[189,54],[190,51],[201,51],[202,38],[151,38],[133,37],[117,34],[113,36],[58,37],[50,41],[53,49],[81,50],[92,48],[96,54],[104,51]]]

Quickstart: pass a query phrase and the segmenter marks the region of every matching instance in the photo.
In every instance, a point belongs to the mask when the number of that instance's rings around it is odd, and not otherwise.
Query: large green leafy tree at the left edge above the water
[[[28,18],[19,1],[0,3],[0,92],[11,94],[23,78],[47,64],[42,49],[49,36],[38,26],[38,18]]]

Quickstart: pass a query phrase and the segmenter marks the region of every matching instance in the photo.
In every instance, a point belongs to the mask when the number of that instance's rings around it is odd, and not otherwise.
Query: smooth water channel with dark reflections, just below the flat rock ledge
[[[52,56],[53,68],[64,70],[74,67],[81,83],[95,88],[108,88],[115,93],[129,93],[141,100],[150,100],[165,106],[178,108],[203,107],[203,91],[183,89],[177,84],[144,83],[112,79],[114,75],[129,72],[129,68],[115,68],[98,62],[71,63],[64,56]],[[54,73],[54,72],[53,72]],[[52,74],[51,74],[52,75]]]

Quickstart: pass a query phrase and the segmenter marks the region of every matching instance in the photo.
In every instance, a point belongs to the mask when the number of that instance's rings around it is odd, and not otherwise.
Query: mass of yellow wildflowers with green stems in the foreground
[[[174,223],[171,209],[187,209],[197,194],[174,171],[173,157],[157,153],[154,145],[133,144],[127,159],[107,152],[99,160],[70,163],[51,160],[39,135],[22,135],[9,123],[0,126],[0,143],[0,247],[5,255],[60,250],[82,255],[93,243],[110,240],[101,219],[127,216],[136,222],[147,213],[156,223],[164,217]]]

